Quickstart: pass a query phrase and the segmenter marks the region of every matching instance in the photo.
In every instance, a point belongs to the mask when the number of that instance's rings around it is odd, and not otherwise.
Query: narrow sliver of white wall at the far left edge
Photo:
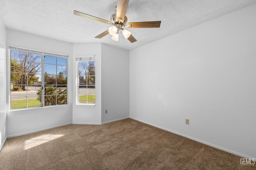
[[[6,27],[0,17],[0,150],[6,140]]]

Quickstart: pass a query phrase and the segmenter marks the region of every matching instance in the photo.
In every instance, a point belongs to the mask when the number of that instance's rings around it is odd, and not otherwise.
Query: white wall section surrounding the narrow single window
[[[76,58],[95,55],[95,107],[76,104]],[[73,45],[73,123],[101,124],[101,44],[76,43]]]

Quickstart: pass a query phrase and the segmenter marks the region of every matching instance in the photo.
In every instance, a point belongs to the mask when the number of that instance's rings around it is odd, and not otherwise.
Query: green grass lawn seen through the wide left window
[[[41,102],[36,99],[28,99],[28,107],[40,107]],[[22,109],[27,107],[26,99],[12,100],[11,109]]]

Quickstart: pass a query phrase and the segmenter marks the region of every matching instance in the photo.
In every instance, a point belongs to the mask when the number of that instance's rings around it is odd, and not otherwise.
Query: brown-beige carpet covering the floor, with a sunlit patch
[[[67,125],[7,139],[1,170],[253,169],[240,157],[150,125],[124,119]]]

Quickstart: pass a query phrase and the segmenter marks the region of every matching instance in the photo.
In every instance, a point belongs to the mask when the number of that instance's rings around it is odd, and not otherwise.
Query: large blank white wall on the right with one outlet
[[[252,5],[131,50],[130,117],[256,158],[255,16]]]

